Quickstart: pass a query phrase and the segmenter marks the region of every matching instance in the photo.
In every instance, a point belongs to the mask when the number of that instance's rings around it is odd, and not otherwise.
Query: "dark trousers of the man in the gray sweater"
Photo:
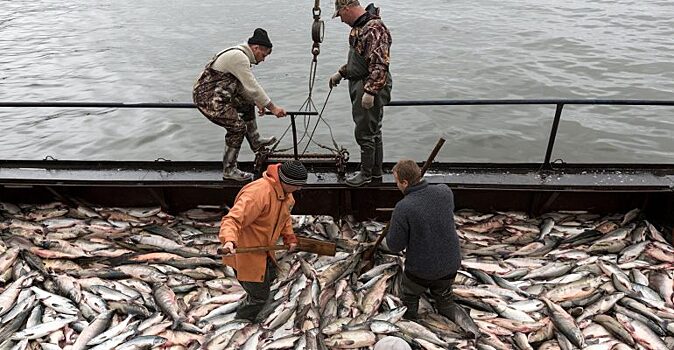
[[[437,280],[426,280],[416,277],[409,272],[403,272],[401,300],[407,307],[405,312],[406,319],[416,319],[419,317],[419,297],[428,289],[435,300],[435,307],[438,313],[446,316],[452,303],[452,284],[456,272]]]

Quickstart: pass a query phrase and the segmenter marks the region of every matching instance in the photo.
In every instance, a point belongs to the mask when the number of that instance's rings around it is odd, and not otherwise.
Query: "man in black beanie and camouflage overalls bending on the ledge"
[[[271,54],[271,49],[267,32],[257,28],[247,43],[215,55],[194,84],[192,98],[199,111],[227,130],[222,161],[224,179],[247,181],[253,178],[253,174],[239,170],[236,163],[244,137],[254,152],[276,142],[274,137],[260,137],[255,105],[260,115],[264,115],[265,110],[279,118],[286,115],[285,110],[267,96],[251,70],[254,64],[260,64]]]

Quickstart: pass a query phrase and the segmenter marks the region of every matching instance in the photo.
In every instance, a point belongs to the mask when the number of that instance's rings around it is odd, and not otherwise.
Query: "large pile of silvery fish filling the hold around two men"
[[[2,349],[674,349],[674,248],[638,210],[455,213],[454,311],[402,318],[404,255],[363,253],[384,225],[294,216],[334,257],[277,253],[256,323],[222,265],[223,211],[0,202]]]

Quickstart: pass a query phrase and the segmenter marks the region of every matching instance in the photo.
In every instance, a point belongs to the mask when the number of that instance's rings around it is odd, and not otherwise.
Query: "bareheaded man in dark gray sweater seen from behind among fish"
[[[454,194],[446,185],[429,185],[412,160],[399,161],[393,177],[405,197],[393,210],[385,246],[392,252],[407,249],[400,297],[407,306],[404,317],[418,317],[419,297],[427,289],[438,312],[448,316],[452,284],[461,267]]]

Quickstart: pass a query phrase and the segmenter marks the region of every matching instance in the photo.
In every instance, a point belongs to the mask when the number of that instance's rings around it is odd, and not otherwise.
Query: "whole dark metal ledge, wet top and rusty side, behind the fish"
[[[385,165],[383,179],[360,188],[343,184],[325,164],[308,164],[309,181],[296,193],[296,214],[387,220],[402,194]],[[252,170],[252,163],[243,163]],[[353,171],[357,164],[349,164]],[[620,213],[641,208],[671,222],[674,169],[664,165],[433,164],[426,179],[445,183],[456,208],[483,212],[553,210]],[[110,206],[161,205],[178,212],[197,205],[232,205],[244,183],[223,181],[219,162],[0,161],[0,200],[55,199]]]

